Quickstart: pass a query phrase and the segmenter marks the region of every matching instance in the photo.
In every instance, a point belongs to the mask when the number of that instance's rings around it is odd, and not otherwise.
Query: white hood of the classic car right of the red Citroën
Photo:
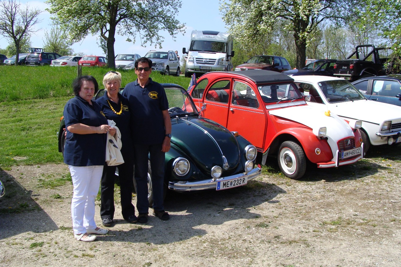
[[[401,118],[401,107],[372,100],[355,100],[328,104],[338,116],[381,124],[385,120]]]

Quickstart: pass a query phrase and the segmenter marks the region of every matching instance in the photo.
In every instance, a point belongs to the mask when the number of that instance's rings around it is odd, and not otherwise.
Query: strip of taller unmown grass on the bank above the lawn
[[[82,75],[92,75],[103,88],[104,74],[110,68],[83,67]],[[134,70],[119,70],[122,86],[136,80]],[[71,82],[77,77],[76,67],[0,66],[0,102],[50,97],[73,96]],[[190,78],[164,76],[152,72],[156,82],[176,83],[188,87]]]

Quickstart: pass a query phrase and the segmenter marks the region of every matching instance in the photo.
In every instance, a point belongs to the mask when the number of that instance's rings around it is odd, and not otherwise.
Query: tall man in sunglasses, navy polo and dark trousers
[[[162,220],[170,219],[164,211],[163,180],[164,155],[170,150],[171,121],[166,92],[149,77],[151,72],[152,60],[138,58],[135,61],[138,79],[127,84],[122,92],[131,108],[139,223],[148,222],[148,155],[152,172],[153,215]]]

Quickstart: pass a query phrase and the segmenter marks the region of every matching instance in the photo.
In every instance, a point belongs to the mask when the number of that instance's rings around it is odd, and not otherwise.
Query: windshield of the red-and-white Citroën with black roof
[[[257,88],[265,103],[302,98],[300,91],[294,84],[269,84],[258,86]]]

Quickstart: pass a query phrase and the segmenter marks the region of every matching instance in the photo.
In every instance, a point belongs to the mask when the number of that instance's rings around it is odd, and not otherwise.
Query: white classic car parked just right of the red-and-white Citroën
[[[329,76],[294,76],[306,102],[345,120],[362,120],[364,151],[370,145],[401,143],[401,107],[367,100],[350,82]]]

